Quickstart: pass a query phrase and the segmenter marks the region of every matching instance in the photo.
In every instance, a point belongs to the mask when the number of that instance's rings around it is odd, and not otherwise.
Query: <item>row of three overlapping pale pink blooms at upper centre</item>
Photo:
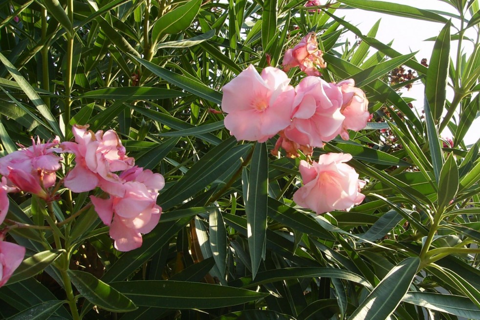
[[[296,144],[286,150],[323,147],[339,134],[348,140],[347,130],[365,128],[370,117],[368,100],[352,79],[334,84],[308,76],[294,88],[282,70],[266,67],[259,75],[250,65],[222,90],[230,134],[264,142],[280,132]]]

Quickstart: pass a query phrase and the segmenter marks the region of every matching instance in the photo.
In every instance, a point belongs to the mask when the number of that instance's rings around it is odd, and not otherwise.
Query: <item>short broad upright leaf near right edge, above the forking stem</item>
[[[458,167],[455,156],[450,153],[440,172],[438,182],[438,208],[444,208],[455,198],[458,191]]]

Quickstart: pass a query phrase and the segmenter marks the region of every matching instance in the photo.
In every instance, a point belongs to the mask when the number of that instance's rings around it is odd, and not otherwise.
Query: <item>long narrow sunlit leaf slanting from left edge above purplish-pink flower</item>
[[[18,85],[20,85],[23,92],[25,92],[25,94],[27,95],[28,99],[30,99],[31,102],[35,105],[35,107],[37,107],[37,110],[42,114],[47,123],[50,125],[50,128],[47,129],[53,130],[55,134],[63,137],[64,135],[62,133],[62,130],[60,130],[60,127],[58,126],[55,117],[50,112],[50,109],[44,104],[42,98],[40,98],[37,92],[35,92],[35,89],[25,80],[25,78],[23,78],[17,68],[15,68],[15,66],[11,64],[10,61],[8,61],[7,58],[5,58],[5,56],[1,53],[0,61],[4,64],[5,68],[8,70],[8,72],[10,72]]]

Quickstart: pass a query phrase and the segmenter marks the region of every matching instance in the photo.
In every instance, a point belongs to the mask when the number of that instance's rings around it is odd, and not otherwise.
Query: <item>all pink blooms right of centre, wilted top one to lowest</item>
[[[338,135],[348,140],[348,130],[367,126],[368,100],[353,79],[327,83],[318,77],[317,66],[325,67],[325,62],[315,33],[288,49],[283,65],[285,71],[299,66],[307,77],[293,87],[284,71],[269,66],[259,74],[250,65],[222,87],[225,128],[237,140],[264,142],[279,134],[273,154],[281,147],[287,156],[299,156],[301,150],[310,159],[314,147],[323,147]],[[365,195],[360,189],[365,182],[345,163],[350,159],[350,154],[328,153],[312,165],[302,161],[304,186],[294,194],[294,201],[317,214],[362,202]]]

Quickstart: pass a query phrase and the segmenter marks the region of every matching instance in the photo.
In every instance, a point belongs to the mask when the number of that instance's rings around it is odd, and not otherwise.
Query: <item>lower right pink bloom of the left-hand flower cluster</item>
[[[119,197],[109,199],[90,196],[102,221],[110,226],[110,237],[115,248],[130,251],[142,245],[142,235],[153,230],[160,219],[162,208],[156,204],[158,191],[165,185],[163,176],[150,170],[131,168],[121,174],[126,182],[119,183]]]

